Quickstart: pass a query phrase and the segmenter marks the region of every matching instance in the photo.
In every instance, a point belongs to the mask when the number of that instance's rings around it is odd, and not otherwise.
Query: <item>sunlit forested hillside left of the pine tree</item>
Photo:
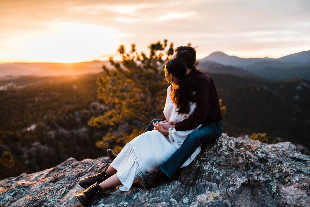
[[[104,129],[87,124],[104,112],[97,77],[21,77],[11,85],[30,86],[0,91],[0,178],[46,169],[68,157],[104,155],[95,146]]]

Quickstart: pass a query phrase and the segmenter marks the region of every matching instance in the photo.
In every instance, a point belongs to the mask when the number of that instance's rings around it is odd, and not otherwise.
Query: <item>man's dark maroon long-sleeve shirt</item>
[[[197,70],[196,67],[188,74],[188,77],[196,79],[196,95],[198,97],[197,107],[194,113],[187,119],[175,124],[175,130],[191,130],[202,124],[217,123],[222,120],[219,96],[217,95],[213,80],[209,75]],[[166,117],[163,116],[162,120]]]

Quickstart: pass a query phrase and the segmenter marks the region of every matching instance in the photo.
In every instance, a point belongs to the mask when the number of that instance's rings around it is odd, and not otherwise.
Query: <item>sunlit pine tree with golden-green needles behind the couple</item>
[[[138,53],[135,44],[126,53],[124,45],[118,48],[122,61],[110,57],[113,69],[103,66],[103,74],[98,77],[98,97],[109,109],[104,115],[93,117],[91,126],[108,127],[102,141],[96,143],[102,148],[112,148],[115,152],[127,142],[141,134],[147,124],[162,116],[166,101],[168,83],[164,65],[173,54],[173,43],[168,41],[152,43],[149,56]]]

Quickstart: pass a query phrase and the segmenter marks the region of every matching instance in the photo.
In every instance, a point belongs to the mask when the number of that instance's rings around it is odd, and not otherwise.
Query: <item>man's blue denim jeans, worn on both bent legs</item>
[[[158,121],[154,119],[153,121]],[[153,122],[152,121],[152,122]],[[159,119],[160,121],[160,119]],[[153,130],[152,122],[148,125],[144,132]],[[150,125],[152,127],[150,127]],[[150,128],[149,128],[150,127]],[[223,133],[222,126],[215,126],[208,123],[203,123],[201,127],[188,134],[183,144],[173,155],[159,168],[168,178],[175,174],[175,172],[183,165],[183,163],[196,151],[201,144],[208,144],[214,142]]]

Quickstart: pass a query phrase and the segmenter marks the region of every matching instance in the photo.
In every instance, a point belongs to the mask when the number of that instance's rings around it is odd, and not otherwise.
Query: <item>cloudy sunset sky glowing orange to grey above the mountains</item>
[[[0,63],[121,59],[167,39],[221,51],[279,58],[310,50],[309,0],[0,0]]]

